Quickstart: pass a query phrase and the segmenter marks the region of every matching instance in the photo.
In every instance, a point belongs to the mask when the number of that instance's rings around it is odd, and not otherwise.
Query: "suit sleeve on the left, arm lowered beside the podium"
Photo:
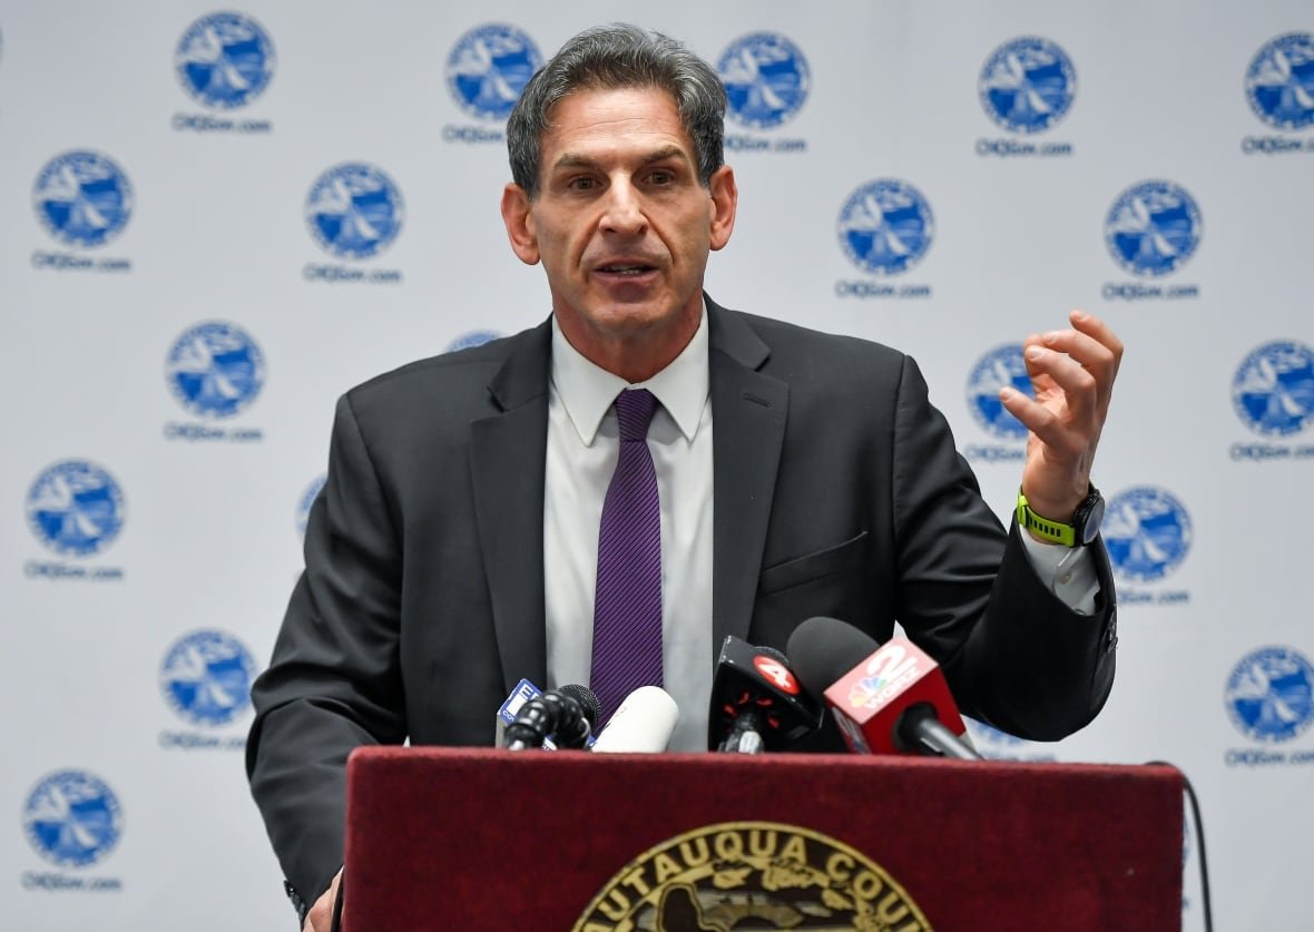
[[[251,793],[283,870],[307,903],[343,862],[352,748],[401,743],[398,522],[350,397],[306,526],[302,573],[269,668],[251,690]]]

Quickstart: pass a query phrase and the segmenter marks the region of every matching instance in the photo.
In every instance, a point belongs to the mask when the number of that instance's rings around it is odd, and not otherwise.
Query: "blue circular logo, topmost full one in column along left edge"
[[[104,246],[133,216],[133,185],[112,159],[79,150],[57,155],[32,189],[37,217],[68,246]]]

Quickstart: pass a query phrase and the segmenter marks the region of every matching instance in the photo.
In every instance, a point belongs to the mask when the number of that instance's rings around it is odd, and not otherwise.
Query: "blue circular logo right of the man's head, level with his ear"
[[[854,191],[840,210],[840,246],[858,268],[899,275],[930,248],[930,204],[907,181],[883,177]]]

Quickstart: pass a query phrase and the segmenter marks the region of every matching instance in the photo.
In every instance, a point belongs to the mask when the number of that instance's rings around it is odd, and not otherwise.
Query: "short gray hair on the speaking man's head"
[[[694,143],[698,177],[711,184],[725,160],[725,85],[712,67],[683,43],[627,24],[586,29],[557,51],[530,83],[506,122],[511,177],[530,200],[539,195],[543,137],[549,114],[576,91],[644,88],[666,91]]]

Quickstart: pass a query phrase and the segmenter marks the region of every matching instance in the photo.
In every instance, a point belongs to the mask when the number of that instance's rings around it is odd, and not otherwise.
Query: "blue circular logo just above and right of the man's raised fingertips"
[[[1200,245],[1200,208],[1172,181],[1142,181],[1121,195],[1104,221],[1113,260],[1133,275],[1167,275]]]

